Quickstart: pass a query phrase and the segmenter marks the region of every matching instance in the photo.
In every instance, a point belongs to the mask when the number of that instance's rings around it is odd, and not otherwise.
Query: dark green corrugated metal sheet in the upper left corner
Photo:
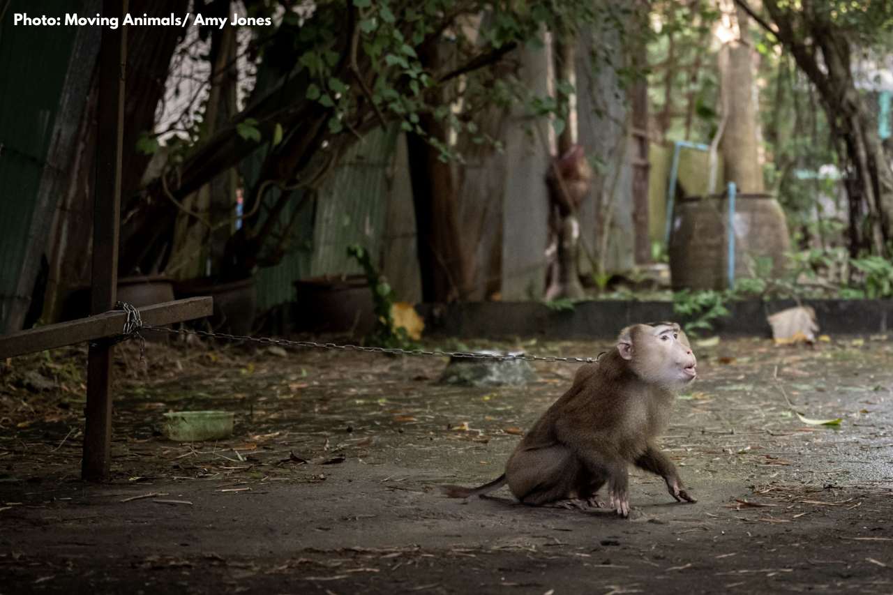
[[[80,4],[65,8],[77,11]],[[74,27],[13,26],[15,13],[62,11],[54,0],[12,0],[0,22],[0,308],[29,298],[16,297],[15,286],[77,32]],[[4,308],[0,328],[5,315]]]

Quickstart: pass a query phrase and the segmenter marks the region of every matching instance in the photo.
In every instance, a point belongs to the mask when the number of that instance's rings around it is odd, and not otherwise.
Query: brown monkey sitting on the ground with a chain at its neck
[[[514,449],[505,473],[478,488],[447,485],[451,498],[483,496],[508,484],[524,504],[585,500],[605,483],[611,507],[630,515],[629,465],[663,477],[677,502],[695,502],[655,446],[676,393],[697,376],[697,360],[677,323],[634,324],[595,364],[580,366],[570,390]]]

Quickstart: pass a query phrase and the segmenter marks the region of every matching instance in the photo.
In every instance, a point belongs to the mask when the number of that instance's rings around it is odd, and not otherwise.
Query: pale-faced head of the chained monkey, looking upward
[[[697,359],[677,323],[634,324],[617,338],[617,351],[647,382],[680,389],[695,380]]]

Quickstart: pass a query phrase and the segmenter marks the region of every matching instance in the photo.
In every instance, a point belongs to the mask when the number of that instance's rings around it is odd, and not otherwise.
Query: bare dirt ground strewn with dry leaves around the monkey
[[[629,520],[438,493],[501,473],[575,365],[484,389],[438,384],[435,357],[150,344],[143,367],[136,346],[118,352],[102,485],[79,481],[83,349],[0,362],[0,593],[893,592],[887,337],[696,348],[662,445],[698,502],[633,472]],[[781,389],[839,429],[802,423]],[[208,408],[235,412],[232,439],[158,432],[163,412]]]

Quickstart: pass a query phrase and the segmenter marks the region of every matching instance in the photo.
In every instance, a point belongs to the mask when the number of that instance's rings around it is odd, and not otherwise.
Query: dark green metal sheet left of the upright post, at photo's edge
[[[88,0],[93,4],[93,0]],[[91,13],[88,4],[67,10]],[[0,332],[28,311],[40,256],[86,98],[98,28],[13,26],[14,13],[53,14],[54,0],[12,0],[0,21]],[[77,41],[76,41],[77,39]],[[39,68],[35,65],[39,64]]]

